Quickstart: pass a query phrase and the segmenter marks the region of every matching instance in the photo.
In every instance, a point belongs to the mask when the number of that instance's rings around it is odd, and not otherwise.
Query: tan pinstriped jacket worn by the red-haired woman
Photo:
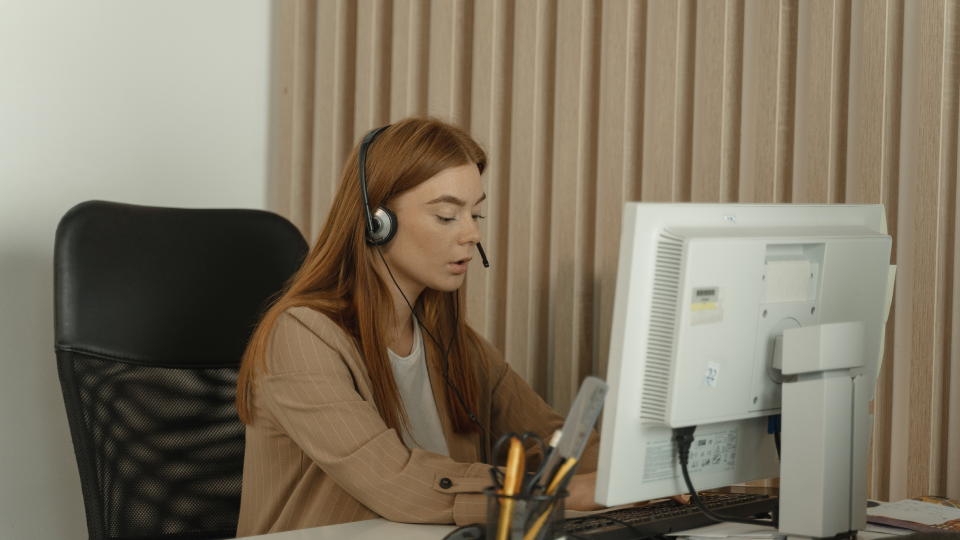
[[[480,407],[474,411],[489,446],[508,432],[547,439],[563,425],[557,414],[483,341],[488,364],[469,344],[477,366]],[[237,536],[383,517],[407,523],[486,520],[480,491],[492,484],[480,463],[479,434],[454,433],[446,411],[443,367],[427,367],[450,457],[409,449],[377,412],[370,377],[353,340],[326,316],[292,308],[278,319],[258,374],[247,426]],[[578,473],[596,470],[598,437]],[[528,468],[542,459],[527,452]],[[443,482],[441,480],[449,480]]]

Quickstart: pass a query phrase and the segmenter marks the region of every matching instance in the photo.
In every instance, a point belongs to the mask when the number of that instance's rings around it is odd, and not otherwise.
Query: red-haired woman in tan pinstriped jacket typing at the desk
[[[366,139],[243,358],[238,536],[375,517],[485,521],[492,443],[525,431],[546,440],[563,424],[460,309],[480,242],[483,150],[429,118]],[[396,215],[382,245],[365,239],[361,147],[370,208]],[[597,453],[594,433],[567,508],[598,508]],[[528,468],[541,459],[528,450]]]

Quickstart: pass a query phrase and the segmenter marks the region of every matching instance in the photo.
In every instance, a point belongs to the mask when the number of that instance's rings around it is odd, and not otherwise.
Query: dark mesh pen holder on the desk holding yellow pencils
[[[495,488],[487,496],[488,540],[553,540],[563,536],[563,501],[569,491],[556,495],[499,495]]]

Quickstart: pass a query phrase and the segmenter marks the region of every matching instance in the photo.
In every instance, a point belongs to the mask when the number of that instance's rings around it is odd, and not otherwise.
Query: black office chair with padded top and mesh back
[[[257,210],[90,201],[55,244],[57,369],[91,540],[232,538],[237,370],[307,252]]]

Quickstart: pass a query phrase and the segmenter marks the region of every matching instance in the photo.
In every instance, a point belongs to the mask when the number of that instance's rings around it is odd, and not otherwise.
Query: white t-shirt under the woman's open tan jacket
[[[409,448],[420,448],[450,457],[450,449],[443,435],[440,413],[437,412],[437,402],[433,399],[433,388],[427,373],[423,336],[416,319],[413,321],[413,330],[413,349],[410,356],[400,358],[387,349],[393,378],[397,381],[400,399],[403,400],[403,408],[410,420],[409,433],[403,433],[403,442]]]

